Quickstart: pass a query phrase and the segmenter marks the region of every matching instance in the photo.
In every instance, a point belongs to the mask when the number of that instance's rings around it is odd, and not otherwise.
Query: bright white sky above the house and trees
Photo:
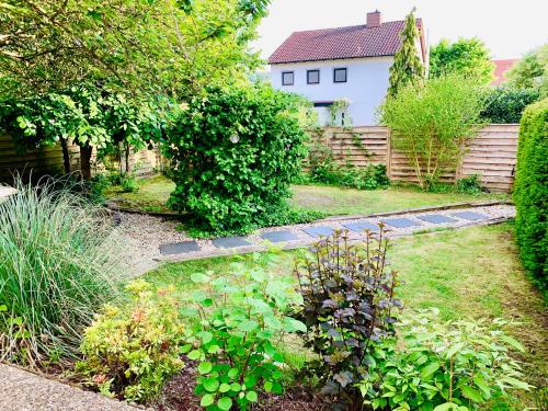
[[[476,36],[504,59],[548,43],[547,0],[272,0],[253,48],[266,59],[295,31],[365,24],[376,9],[383,21],[403,20],[413,7],[431,45]]]

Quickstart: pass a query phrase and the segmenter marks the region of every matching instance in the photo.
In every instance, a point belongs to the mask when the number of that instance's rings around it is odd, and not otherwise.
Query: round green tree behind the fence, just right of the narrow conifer
[[[480,84],[493,80],[494,64],[490,50],[479,38],[460,38],[455,43],[442,39],[430,50],[430,77],[436,78],[456,72]]]

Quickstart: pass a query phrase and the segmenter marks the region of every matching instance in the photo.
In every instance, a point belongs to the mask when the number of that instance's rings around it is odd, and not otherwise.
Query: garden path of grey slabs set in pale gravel
[[[225,237],[196,240],[175,229],[176,221],[160,217],[123,215],[126,237],[136,247],[136,261],[145,262],[140,273],[162,261],[185,261],[210,256],[249,253],[267,249],[273,243],[282,249],[296,249],[312,244],[335,229],[347,229],[351,239],[359,240],[364,230],[378,230],[384,221],[389,237],[409,236],[416,231],[487,225],[514,217],[515,208],[509,204],[467,205],[459,208],[430,207],[385,215],[332,217],[308,225],[264,228],[246,237]],[[133,252],[135,255],[135,252]],[[146,263],[148,262],[148,263]]]

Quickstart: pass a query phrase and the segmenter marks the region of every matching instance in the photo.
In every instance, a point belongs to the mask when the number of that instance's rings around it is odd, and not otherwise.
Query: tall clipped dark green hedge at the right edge
[[[516,239],[525,270],[548,286],[548,99],[527,107],[520,125],[514,184]]]

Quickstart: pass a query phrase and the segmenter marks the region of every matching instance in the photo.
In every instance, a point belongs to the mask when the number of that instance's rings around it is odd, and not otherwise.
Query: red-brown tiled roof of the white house
[[[386,22],[377,27],[309,30],[293,33],[269,58],[281,62],[334,60],[341,58],[393,56],[401,46],[400,32],[404,21]],[[416,19],[419,28],[421,19]]]

